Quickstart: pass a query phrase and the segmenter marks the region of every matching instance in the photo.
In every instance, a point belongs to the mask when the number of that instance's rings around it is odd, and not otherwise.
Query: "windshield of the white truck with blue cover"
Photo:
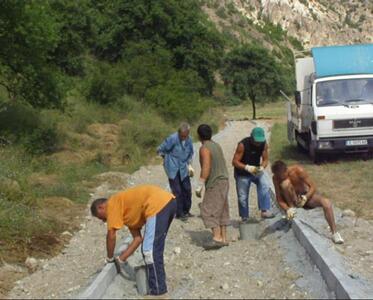
[[[341,79],[318,82],[317,106],[373,104],[373,78]]]

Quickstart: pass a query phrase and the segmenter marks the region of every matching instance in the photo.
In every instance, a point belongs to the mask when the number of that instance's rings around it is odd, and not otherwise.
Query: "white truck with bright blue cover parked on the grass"
[[[295,58],[288,138],[317,163],[326,153],[373,150],[373,44],[313,48]]]

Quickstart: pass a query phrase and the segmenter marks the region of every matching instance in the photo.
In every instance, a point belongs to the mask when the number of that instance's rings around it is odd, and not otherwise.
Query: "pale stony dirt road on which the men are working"
[[[268,126],[261,123],[263,127]],[[238,240],[238,210],[233,170],[230,161],[253,123],[233,122],[214,139],[221,144],[230,172],[229,228],[231,243],[217,251],[204,251],[202,243],[210,232],[198,217],[198,198],[193,198],[192,213],[196,217],[184,223],[175,220],[171,226],[165,264],[171,298],[326,298],[328,295],[319,272],[309,262],[304,250],[289,228],[283,228],[257,241]],[[199,145],[197,145],[198,150]],[[197,157],[194,167],[199,175]],[[107,183],[92,195],[108,195],[125,186],[152,183],[168,188],[161,165],[141,168],[131,176],[106,174]],[[113,182],[116,184],[113,185]],[[193,184],[195,181],[193,181]],[[251,213],[257,214],[256,195],[251,192]],[[45,263],[39,271],[20,281],[9,294],[12,298],[70,298],[76,296],[103,266],[105,257],[105,225],[89,217],[59,256]],[[262,222],[263,230],[280,216]],[[122,231],[123,235],[128,234]],[[110,298],[137,297],[133,282],[117,276],[107,291]]]

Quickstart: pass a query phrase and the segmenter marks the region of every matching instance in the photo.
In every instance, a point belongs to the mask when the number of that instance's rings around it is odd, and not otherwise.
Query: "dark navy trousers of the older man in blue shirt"
[[[181,180],[180,172],[178,172],[174,179],[169,178],[168,181],[177,201],[176,217],[186,215],[192,207],[192,186],[189,176]]]

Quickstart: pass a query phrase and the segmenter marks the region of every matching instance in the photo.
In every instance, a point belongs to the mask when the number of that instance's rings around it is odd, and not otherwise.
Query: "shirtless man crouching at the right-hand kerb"
[[[336,244],[343,244],[341,235],[336,231],[333,206],[329,199],[316,193],[315,183],[306,171],[299,165],[287,167],[278,160],[272,165],[273,184],[279,206],[286,211],[287,219],[292,220],[296,209],[312,209],[322,207],[325,219],[332,232],[332,240]]]

